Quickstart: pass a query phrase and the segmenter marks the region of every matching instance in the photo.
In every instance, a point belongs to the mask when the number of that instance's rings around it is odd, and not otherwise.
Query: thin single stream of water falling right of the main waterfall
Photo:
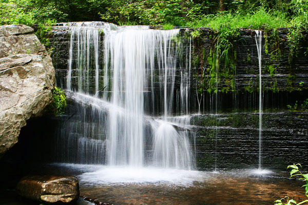
[[[259,60],[259,170],[262,168],[262,31],[256,30],[256,46]]]

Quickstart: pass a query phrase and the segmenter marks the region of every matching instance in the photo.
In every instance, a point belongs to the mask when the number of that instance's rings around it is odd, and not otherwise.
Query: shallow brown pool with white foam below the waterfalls
[[[274,204],[284,196],[298,202],[307,199],[303,182],[290,180],[288,172],[206,172],[59,163],[39,167],[31,174],[76,175],[82,197],[114,205]],[[15,195],[14,190],[2,191],[0,204],[37,204]],[[80,199],[77,204],[93,203]]]

